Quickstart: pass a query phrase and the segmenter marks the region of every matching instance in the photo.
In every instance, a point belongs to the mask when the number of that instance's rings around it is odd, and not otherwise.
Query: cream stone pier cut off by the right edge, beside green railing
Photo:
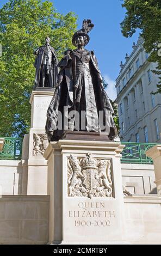
[[[156,145],[146,151],[146,155],[151,157],[154,162],[154,173],[156,176],[156,185],[158,195],[161,196],[161,145]]]

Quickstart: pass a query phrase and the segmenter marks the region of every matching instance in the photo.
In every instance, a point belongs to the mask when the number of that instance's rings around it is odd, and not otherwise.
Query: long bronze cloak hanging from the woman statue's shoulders
[[[106,132],[108,133],[109,138],[113,140],[117,135],[117,129],[112,116],[114,113],[113,107],[104,90],[101,72],[98,69],[94,52],[88,53],[90,54],[89,68],[90,76],[92,78],[92,86],[94,88],[94,100],[96,102],[97,113],[99,113],[99,111],[103,112],[103,123],[108,130],[108,132],[107,130]],[[47,111],[46,133],[48,141],[58,141],[62,138],[65,132],[63,128],[60,129],[59,127],[58,129],[57,127],[58,119],[60,117],[59,113],[62,114],[64,125],[64,106],[68,109],[68,112],[70,112],[73,109],[76,109],[76,101],[80,102],[82,105],[85,104],[84,99],[80,100],[82,92],[81,86],[77,87],[76,95],[76,58],[75,51],[67,51],[58,64],[60,72],[58,75],[57,87]],[[81,130],[79,129],[79,131]],[[101,129],[100,131],[104,131],[104,129]]]

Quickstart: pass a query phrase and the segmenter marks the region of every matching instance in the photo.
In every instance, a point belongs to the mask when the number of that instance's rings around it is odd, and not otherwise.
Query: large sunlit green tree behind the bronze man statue
[[[29,98],[34,86],[34,50],[51,38],[60,59],[72,48],[77,16],[57,13],[41,0],[10,0],[0,9],[0,135],[23,136],[30,127]]]

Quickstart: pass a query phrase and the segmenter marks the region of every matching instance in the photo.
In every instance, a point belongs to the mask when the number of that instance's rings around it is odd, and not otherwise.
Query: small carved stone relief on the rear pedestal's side
[[[33,135],[33,156],[43,156],[47,148],[48,141],[45,134]]]

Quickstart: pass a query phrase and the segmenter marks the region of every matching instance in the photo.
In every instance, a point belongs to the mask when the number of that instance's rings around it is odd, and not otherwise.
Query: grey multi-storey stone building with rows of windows
[[[152,72],[157,64],[147,61],[143,42],[140,36],[116,79],[121,141],[160,143],[161,94],[152,94],[159,81]]]

